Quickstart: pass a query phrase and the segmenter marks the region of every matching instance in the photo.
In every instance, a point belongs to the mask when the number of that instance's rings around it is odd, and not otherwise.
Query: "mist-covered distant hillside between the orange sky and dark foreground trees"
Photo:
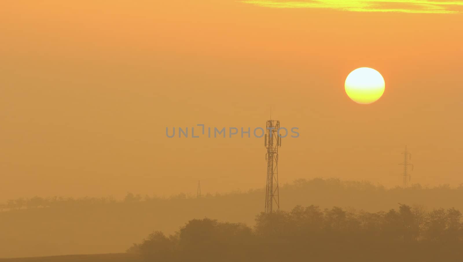
[[[350,212],[380,212],[398,203],[425,210],[455,207],[463,210],[463,188],[446,185],[405,190],[386,189],[369,182],[338,179],[298,180],[280,189],[281,209],[294,206],[339,206]],[[149,232],[173,234],[195,218],[214,218],[255,225],[264,209],[264,190],[207,194],[200,198],[175,195],[167,199],[127,194],[124,200],[32,198],[2,205],[0,212],[0,257],[49,256],[124,252]],[[10,207],[8,207],[10,203]],[[11,210],[10,210],[11,209]]]

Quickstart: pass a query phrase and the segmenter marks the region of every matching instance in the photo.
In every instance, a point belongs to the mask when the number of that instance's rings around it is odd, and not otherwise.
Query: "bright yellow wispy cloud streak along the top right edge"
[[[463,12],[462,0],[243,0],[242,2],[273,8],[328,8],[352,12]]]

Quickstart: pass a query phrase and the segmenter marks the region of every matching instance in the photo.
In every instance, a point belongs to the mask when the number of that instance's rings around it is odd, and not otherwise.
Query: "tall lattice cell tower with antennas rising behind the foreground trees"
[[[278,191],[278,148],[282,145],[282,138],[278,136],[280,121],[267,121],[267,134],[265,134],[265,147],[267,154],[267,187],[265,192],[265,212],[273,211],[275,202],[276,210],[280,209],[280,197]]]

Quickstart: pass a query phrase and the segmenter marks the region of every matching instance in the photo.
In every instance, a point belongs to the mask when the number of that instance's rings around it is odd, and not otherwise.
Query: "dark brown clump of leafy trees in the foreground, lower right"
[[[462,213],[399,204],[388,212],[296,206],[242,223],[193,219],[127,250],[144,261],[461,261]]]

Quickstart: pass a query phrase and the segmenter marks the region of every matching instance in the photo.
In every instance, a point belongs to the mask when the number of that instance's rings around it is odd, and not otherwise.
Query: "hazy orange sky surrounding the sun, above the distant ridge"
[[[463,14],[269,8],[233,0],[6,1],[0,200],[264,187],[263,139],[167,138],[166,126],[297,126],[282,183],[463,183]],[[344,92],[383,75],[371,105]]]

